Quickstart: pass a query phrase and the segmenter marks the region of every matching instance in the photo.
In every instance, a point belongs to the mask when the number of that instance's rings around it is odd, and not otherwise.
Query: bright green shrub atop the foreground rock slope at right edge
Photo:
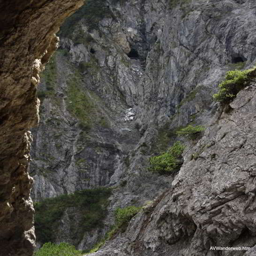
[[[218,85],[219,92],[213,95],[215,101],[226,103],[231,101],[236,94],[255,77],[256,68],[249,70],[227,71],[225,80]]]

